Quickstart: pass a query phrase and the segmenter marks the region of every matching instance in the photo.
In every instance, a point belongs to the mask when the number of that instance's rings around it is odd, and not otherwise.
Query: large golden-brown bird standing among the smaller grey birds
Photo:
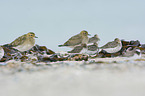
[[[66,47],[74,48],[76,45],[87,44],[89,41],[88,35],[90,34],[88,34],[86,30],[83,30],[79,34],[72,36],[64,44],[58,45],[58,47],[66,46]]]

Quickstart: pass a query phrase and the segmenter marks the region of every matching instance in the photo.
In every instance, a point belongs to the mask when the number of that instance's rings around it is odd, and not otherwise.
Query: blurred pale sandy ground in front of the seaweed
[[[0,96],[145,96],[144,58],[20,63],[0,66]]]

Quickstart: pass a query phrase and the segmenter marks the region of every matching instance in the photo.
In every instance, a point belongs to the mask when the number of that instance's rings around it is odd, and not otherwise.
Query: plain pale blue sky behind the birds
[[[145,0],[0,0],[0,44],[30,31],[36,44],[54,51],[71,36],[87,30],[99,46],[118,37],[145,43]]]

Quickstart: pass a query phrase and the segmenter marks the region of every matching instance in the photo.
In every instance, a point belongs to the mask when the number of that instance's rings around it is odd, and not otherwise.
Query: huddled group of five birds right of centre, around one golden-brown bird
[[[101,50],[106,51],[107,53],[115,53],[121,50],[122,43],[121,40],[115,38],[114,41],[108,42],[102,47],[98,47],[98,42],[100,38],[97,34],[94,37],[88,38],[88,32],[83,30],[79,34],[72,36],[68,41],[66,41],[62,45],[58,45],[59,47],[70,47],[73,48],[68,53],[98,53]]]

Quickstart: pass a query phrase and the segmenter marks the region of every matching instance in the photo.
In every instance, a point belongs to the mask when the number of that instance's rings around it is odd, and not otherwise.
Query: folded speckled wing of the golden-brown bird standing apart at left
[[[16,47],[17,45],[21,45],[24,43],[24,41],[26,40],[26,34],[18,37],[17,39],[15,39],[12,43],[10,43],[9,45],[12,47]]]

